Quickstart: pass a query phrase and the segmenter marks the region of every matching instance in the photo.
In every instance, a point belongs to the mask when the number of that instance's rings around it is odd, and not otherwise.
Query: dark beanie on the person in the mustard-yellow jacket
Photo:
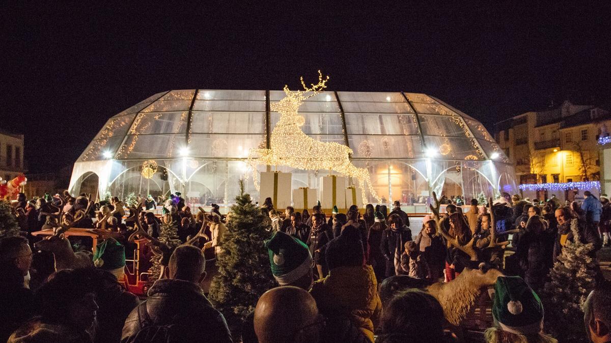
[[[363,244],[360,241],[359,229],[352,225],[346,226],[342,234],[332,239],[324,251],[325,261],[329,270],[337,267],[363,265]]]

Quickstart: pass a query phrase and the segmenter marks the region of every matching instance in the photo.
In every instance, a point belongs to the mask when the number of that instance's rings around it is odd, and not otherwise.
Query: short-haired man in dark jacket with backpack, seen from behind
[[[166,332],[176,342],[232,342],[225,318],[212,307],[199,286],[205,265],[198,248],[176,248],[168,265],[169,280],[155,281],[147,300],[131,311],[121,341],[147,341],[161,332],[160,327],[171,326]]]

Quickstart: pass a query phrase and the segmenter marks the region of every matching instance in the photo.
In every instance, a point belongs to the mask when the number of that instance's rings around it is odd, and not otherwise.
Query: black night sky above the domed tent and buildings
[[[296,88],[318,69],[329,90],[428,93],[490,131],[552,101],[611,100],[609,2],[227,3],[1,4],[0,128],[26,135],[40,172],[154,93]]]

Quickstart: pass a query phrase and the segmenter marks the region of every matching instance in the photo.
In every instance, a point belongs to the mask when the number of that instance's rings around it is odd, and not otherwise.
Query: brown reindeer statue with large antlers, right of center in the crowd
[[[456,237],[450,236],[444,226],[445,218],[439,217],[439,200],[433,192],[434,206],[431,204],[431,211],[434,215],[434,220],[437,223],[437,232],[441,234],[454,247],[466,253],[469,256],[469,261],[466,261],[465,269],[460,275],[448,283],[437,282],[426,287],[433,297],[439,300],[444,309],[445,318],[452,325],[459,323],[466,318],[475,300],[481,294],[481,291],[486,287],[491,287],[496,283],[499,276],[503,273],[497,267],[491,264],[491,261],[486,261],[486,250],[503,249],[509,242],[497,242],[496,231],[494,230],[494,211],[490,211],[491,231],[490,241],[488,246],[477,248],[475,245],[476,237],[473,236],[466,244],[461,244]],[[488,200],[492,204],[492,199]],[[507,233],[515,233],[518,230],[511,230]]]

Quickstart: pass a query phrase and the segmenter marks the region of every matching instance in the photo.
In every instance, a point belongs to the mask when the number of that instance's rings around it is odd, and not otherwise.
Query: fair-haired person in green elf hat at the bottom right
[[[558,342],[543,333],[543,314],[541,299],[526,281],[499,276],[492,300],[494,327],[485,331],[486,342]]]

